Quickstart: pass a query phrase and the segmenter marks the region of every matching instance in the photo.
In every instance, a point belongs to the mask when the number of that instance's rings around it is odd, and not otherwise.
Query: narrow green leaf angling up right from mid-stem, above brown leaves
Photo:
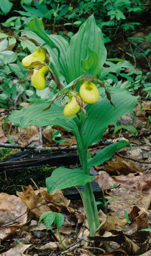
[[[127,145],[129,145],[129,143],[126,140],[121,140],[103,148],[101,151],[99,151],[99,153],[96,154],[96,156],[88,160],[88,168],[91,168],[94,165],[103,164],[104,161],[110,159],[113,154],[115,154],[115,151],[119,150],[120,148],[124,148]]]

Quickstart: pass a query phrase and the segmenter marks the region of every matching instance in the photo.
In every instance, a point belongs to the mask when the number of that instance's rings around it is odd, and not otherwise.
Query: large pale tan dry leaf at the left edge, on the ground
[[[0,238],[4,239],[27,222],[27,207],[20,198],[6,193],[0,194],[0,205],[0,224],[4,227],[0,230]]]

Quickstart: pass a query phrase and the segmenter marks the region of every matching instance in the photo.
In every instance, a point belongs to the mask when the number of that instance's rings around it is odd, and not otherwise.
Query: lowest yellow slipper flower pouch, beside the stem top
[[[64,115],[65,116],[73,116],[80,110],[80,106],[76,101],[76,97],[72,97],[66,107],[64,108]]]

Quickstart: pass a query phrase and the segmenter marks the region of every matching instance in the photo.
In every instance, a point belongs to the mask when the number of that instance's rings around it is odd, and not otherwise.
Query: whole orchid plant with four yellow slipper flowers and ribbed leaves
[[[94,15],[82,24],[69,44],[62,36],[47,35],[42,21],[38,19],[29,23],[24,36],[38,46],[36,52],[22,60],[24,67],[34,68],[29,70],[27,78],[31,77],[31,83],[37,90],[43,90],[45,76],[49,72],[57,93],[51,99],[36,100],[28,108],[13,111],[9,119],[21,128],[59,125],[75,135],[82,168],[55,169],[46,180],[47,190],[52,193],[55,189],[83,185],[83,204],[90,236],[94,236],[99,227],[99,216],[91,187],[95,177],[89,174],[90,168],[104,163],[116,150],[129,143],[126,140],[113,143],[91,158],[87,150],[92,143],[101,140],[109,124],[133,110],[136,97],[124,89],[106,87],[103,83],[108,72],[117,72],[121,67],[132,65],[123,60],[117,64],[106,60],[103,35]],[[103,67],[105,62],[106,67]],[[62,104],[64,99],[67,104]]]

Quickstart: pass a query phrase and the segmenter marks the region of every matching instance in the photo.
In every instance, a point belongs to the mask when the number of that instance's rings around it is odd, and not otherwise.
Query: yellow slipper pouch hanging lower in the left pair
[[[34,70],[31,76],[31,83],[34,88],[43,90],[45,88],[45,74],[48,72],[48,67],[42,67],[40,70]]]

